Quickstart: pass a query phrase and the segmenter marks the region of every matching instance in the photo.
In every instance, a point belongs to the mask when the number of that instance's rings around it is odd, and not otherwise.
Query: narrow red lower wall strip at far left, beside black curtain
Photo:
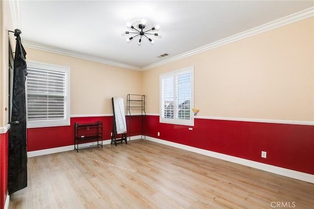
[[[4,208],[8,190],[8,140],[9,132],[0,133],[0,209]]]

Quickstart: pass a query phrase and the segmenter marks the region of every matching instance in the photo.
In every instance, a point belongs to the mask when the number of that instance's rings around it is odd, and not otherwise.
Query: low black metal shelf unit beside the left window
[[[74,123],[74,150],[78,152],[78,145],[88,142],[97,142],[90,146],[101,146],[103,148],[103,122],[97,121],[97,123],[78,124]],[[80,148],[84,148],[80,147]]]

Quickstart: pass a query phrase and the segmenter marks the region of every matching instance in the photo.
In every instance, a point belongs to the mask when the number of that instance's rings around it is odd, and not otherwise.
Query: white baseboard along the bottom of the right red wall
[[[312,174],[307,174],[307,173],[303,173],[303,172],[299,172],[299,171],[290,170],[287,168],[282,168],[282,167],[278,167],[278,166],[274,166],[274,165],[256,162],[253,160],[243,159],[240,157],[234,157],[234,156],[229,156],[229,155],[225,155],[225,154],[221,154],[221,153],[216,153],[216,152],[212,152],[209,150],[203,150],[200,148],[195,148],[195,147],[191,147],[191,146],[187,146],[187,145],[183,145],[183,144],[178,144],[175,142],[157,139],[157,138],[150,137],[150,136],[146,136],[146,139],[149,141],[154,141],[154,142],[157,142],[160,144],[168,145],[171,147],[176,147],[179,149],[183,149],[183,150],[187,150],[190,152],[202,154],[205,156],[215,157],[215,158],[226,160],[229,162],[234,162],[234,163],[237,163],[240,165],[245,165],[245,166],[249,166],[252,168],[257,168],[257,169],[267,171],[270,173],[279,174],[282,176],[290,177],[293,179],[298,179],[298,180],[309,182],[309,183],[314,183],[314,175],[312,175]]]

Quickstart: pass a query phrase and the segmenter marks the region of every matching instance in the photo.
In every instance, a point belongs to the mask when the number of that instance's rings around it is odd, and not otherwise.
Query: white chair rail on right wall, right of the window
[[[278,124],[314,126],[314,121],[290,121],[290,120],[259,119],[259,118],[229,118],[229,117],[213,117],[213,116],[194,116],[194,118],[210,119],[210,120],[226,120],[226,121],[243,121],[243,122],[278,123]]]

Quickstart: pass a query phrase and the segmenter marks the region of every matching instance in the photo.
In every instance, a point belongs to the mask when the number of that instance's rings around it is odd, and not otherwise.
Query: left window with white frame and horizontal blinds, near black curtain
[[[70,68],[27,62],[27,128],[70,125]]]

